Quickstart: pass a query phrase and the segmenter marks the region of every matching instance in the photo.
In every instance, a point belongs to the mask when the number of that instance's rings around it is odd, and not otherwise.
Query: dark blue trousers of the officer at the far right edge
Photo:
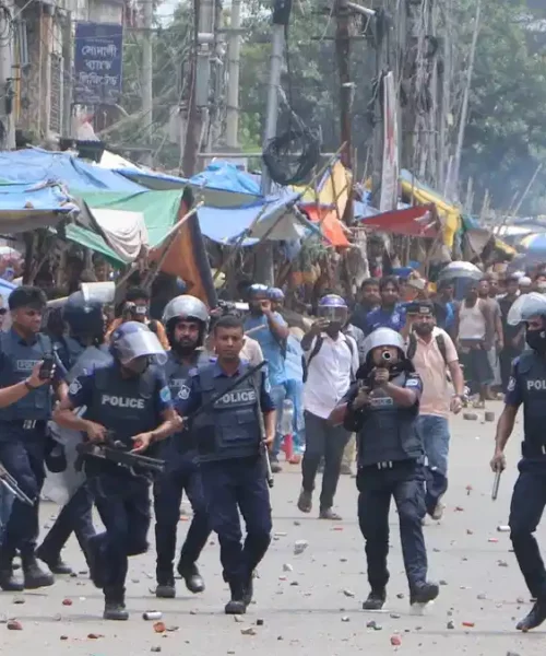
[[[546,462],[523,458],[510,505],[510,539],[532,597],[546,599],[546,570],[535,536],[546,505]]]

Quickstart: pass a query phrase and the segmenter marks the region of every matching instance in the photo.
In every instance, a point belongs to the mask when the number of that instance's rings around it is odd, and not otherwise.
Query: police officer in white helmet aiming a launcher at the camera
[[[345,419],[357,433],[358,522],[366,540],[368,581],[371,587],[365,610],[380,610],[387,597],[389,571],[389,508],[394,497],[400,520],[410,602],[427,604],[438,596],[438,585],[427,582],[427,552],[422,519],[425,517],[424,448],[416,430],[423,385],[404,354],[402,337],[378,328],[365,343],[365,364],[346,405],[332,413]]]

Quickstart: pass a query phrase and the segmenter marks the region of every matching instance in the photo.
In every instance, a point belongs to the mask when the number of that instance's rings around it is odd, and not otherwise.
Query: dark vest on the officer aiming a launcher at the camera
[[[392,384],[403,386],[407,374],[399,374]],[[370,395],[370,405],[363,411],[358,432],[358,466],[408,460],[423,455],[423,442],[417,432],[418,407],[404,408],[382,389]]]

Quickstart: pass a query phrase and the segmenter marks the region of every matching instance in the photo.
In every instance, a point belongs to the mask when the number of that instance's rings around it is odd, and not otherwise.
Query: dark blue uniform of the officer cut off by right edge
[[[517,359],[505,402],[523,406],[522,459],[510,505],[510,538],[533,597],[546,599],[546,570],[534,532],[546,505],[546,361],[535,351]]]

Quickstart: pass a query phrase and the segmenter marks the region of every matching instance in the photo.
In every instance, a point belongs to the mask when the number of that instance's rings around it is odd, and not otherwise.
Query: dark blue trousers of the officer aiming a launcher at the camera
[[[372,589],[389,582],[389,509],[394,499],[399,511],[400,539],[410,589],[427,577],[427,551],[422,519],[425,517],[423,466],[414,460],[394,462],[392,469],[358,470],[358,523],[366,540],[368,581]]]

